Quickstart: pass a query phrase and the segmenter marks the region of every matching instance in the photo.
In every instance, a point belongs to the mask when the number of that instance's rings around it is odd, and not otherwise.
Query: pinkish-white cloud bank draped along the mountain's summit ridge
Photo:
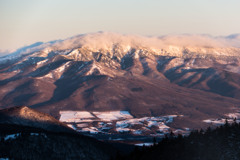
[[[35,47],[29,47],[19,54],[31,53],[45,48],[53,50],[65,50],[78,47],[90,47],[92,49],[112,49],[114,45],[145,47],[162,49],[168,46],[179,47],[203,47],[203,48],[240,48],[240,34],[226,37],[213,37],[210,35],[167,35],[161,37],[146,37],[140,35],[123,35],[112,32],[98,32],[82,34],[67,38],[63,41],[47,42]],[[0,51],[0,55],[5,55],[7,51]]]

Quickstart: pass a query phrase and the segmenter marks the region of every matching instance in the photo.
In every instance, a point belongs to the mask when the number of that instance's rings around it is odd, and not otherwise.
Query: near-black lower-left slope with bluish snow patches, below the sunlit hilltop
[[[108,160],[115,156],[115,149],[110,145],[77,133],[14,127],[15,133],[1,134],[0,158]]]

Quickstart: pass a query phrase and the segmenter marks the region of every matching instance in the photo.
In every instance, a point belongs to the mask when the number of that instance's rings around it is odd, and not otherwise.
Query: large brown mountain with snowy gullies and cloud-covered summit
[[[61,110],[176,114],[184,117],[172,127],[204,127],[240,104],[240,49],[204,38],[187,46],[96,33],[26,47],[0,59],[0,107],[27,105],[56,118]]]

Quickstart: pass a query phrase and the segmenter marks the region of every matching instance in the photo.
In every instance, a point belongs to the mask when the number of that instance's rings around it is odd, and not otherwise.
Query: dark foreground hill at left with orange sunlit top
[[[102,159],[116,150],[28,107],[0,110],[0,158]]]

